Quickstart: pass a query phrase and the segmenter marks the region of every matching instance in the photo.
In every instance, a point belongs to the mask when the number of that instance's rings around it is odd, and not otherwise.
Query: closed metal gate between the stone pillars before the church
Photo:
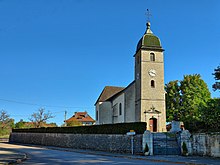
[[[180,155],[178,135],[175,133],[153,133],[154,155]]]

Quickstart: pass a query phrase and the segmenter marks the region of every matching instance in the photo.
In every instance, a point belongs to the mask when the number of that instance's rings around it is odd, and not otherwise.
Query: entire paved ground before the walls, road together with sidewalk
[[[23,161],[22,164],[36,164],[36,165],[47,165],[47,164],[220,165],[220,158],[211,158],[211,157],[198,157],[198,156],[183,157],[183,156],[175,156],[175,155],[156,155],[156,156],[146,157],[146,156],[138,156],[138,155],[131,156],[131,155],[123,155],[123,154],[113,154],[113,153],[96,152],[96,151],[88,151],[88,150],[75,150],[75,149],[66,149],[66,148],[57,148],[57,147],[43,148],[40,146],[33,147],[33,146],[0,143],[0,164],[1,162],[8,162],[6,160],[23,160],[22,158],[24,157],[24,155],[27,155],[27,160]]]

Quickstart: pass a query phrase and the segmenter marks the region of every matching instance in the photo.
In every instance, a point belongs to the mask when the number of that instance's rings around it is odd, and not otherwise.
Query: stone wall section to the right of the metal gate
[[[220,132],[192,135],[193,155],[220,157]]]

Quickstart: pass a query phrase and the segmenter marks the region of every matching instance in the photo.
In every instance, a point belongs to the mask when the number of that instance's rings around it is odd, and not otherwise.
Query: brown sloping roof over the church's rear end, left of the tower
[[[116,87],[116,86],[106,86],[103,89],[102,93],[100,94],[95,105],[97,104],[97,102],[104,102],[104,101],[108,100],[109,98],[111,98],[115,94],[121,92],[123,89],[125,89],[125,88],[124,87]]]

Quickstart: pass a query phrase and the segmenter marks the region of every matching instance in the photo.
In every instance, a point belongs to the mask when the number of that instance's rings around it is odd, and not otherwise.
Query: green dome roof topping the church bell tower
[[[160,39],[153,34],[153,32],[150,30],[150,23],[147,23],[147,30],[144,34],[144,36],[140,39],[140,41],[137,44],[137,50],[141,48],[145,49],[160,49],[162,50],[162,46],[160,43]]]

